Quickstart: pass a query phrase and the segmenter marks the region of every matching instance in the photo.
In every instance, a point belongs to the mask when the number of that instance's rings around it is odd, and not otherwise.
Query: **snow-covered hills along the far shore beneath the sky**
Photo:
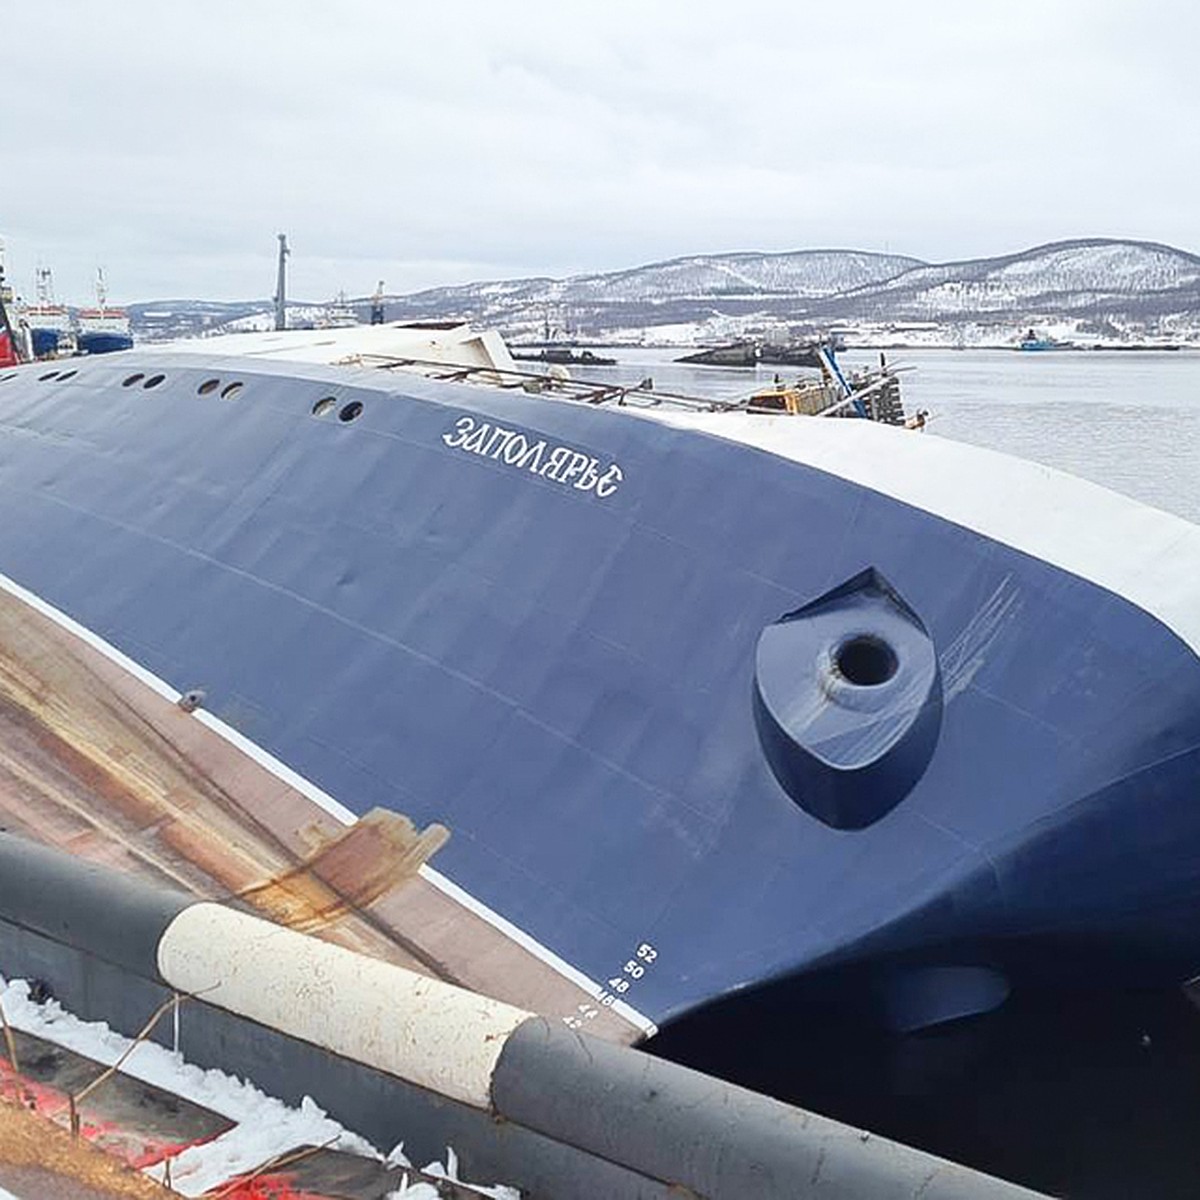
[[[366,298],[352,302],[366,319]],[[144,311],[164,307],[130,306],[134,328]],[[197,304],[196,312],[220,325],[218,307]],[[230,305],[229,319],[245,319],[247,307]],[[256,307],[269,311],[266,301]],[[307,308],[319,320],[320,306]],[[856,250],[743,251],[427,288],[388,296],[386,311],[389,319],[461,318],[517,340],[688,341],[846,326],[870,341],[916,324],[959,343],[1012,340],[1016,326],[1031,325],[1117,342],[1200,341],[1200,257],[1111,238],[937,264]]]

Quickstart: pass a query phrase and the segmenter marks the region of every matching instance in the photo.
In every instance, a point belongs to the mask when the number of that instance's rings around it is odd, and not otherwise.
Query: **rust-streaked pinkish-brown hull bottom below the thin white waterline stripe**
[[[551,1016],[590,997],[418,874],[450,832],[350,827],[0,590],[0,826]],[[589,1028],[631,1042],[608,1009]]]

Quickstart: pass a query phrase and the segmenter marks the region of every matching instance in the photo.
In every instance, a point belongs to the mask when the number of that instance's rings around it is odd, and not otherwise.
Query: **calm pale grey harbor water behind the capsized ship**
[[[636,383],[733,400],[769,384],[757,371],[671,361],[668,349],[616,350],[613,367],[575,367],[588,379]],[[906,367],[905,408],[926,408],[928,432],[1082,475],[1200,523],[1200,352],[888,350]],[[848,350],[847,367],[878,362]],[[781,368],[787,378],[786,368]]]

